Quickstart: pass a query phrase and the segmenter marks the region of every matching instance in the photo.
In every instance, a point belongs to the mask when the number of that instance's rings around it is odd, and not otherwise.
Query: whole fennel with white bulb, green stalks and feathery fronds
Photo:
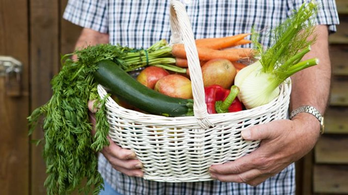
[[[303,3],[292,16],[270,30],[272,46],[266,50],[258,42],[260,34],[253,29],[252,42],[259,60],[235,77],[235,85],[240,88],[238,98],[247,109],[269,103],[279,95],[279,85],[288,77],[319,63],[317,58],[301,61],[316,41],[316,13],[316,3]]]

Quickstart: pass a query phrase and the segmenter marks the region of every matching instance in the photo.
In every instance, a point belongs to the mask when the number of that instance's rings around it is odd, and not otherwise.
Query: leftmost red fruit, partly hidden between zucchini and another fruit
[[[166,75],[169,75],[167,70],[156,66],[149,66],[143,69],[136,79],[141,84],[153,89],[157,81]]]

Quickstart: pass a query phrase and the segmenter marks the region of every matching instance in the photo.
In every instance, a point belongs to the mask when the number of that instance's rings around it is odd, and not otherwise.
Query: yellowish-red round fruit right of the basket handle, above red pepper
[[[201,68],[205,87],[209,85],[220,85],[223,88],[229,89],[237,74],[236,68],[227,59],[209,60]]]

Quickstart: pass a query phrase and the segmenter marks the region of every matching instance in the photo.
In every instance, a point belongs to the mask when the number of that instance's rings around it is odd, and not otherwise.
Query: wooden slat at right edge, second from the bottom
[[[314,151],[316,163],[348,164],[348,135],[323,135]]]

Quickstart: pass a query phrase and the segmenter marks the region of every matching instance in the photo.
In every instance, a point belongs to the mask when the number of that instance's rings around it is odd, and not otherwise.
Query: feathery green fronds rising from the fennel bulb
[[[313,1],[303,3],[291,17],[269,32],[271,43],[274,44],[267,50],[263,50],[261,44],[258,43],[258,33],[253,32],[253,43],[255,49],[260,53],[264,73],[275,74],[278,79],[288,77],[287,74],[291,71],[287,70],[302,59],[308,52],[308,47],[316,40],[316,36],[313,36],[312,18],[316,13],[317,5]]]

